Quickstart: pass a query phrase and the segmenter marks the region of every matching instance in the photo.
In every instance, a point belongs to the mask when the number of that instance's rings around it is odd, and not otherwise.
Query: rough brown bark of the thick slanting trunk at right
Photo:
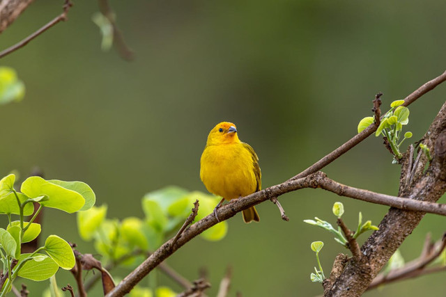
[[[446,103],[431,127],[424,135],[422,143],[431,150],[433,160],[424,172],[427,158],[423,154],[420,162],[413,168],[413,179],[410,184],[406,179],[410,162],[409,154],[403,156],[401,168],[401,186],[399,196],[415,200],[436,202],[446,191]],[[360,296],[369,287],[371,281],[387,263],[404,239],[413,232],[424,213],[403,211],[390,208],[381,221],[379,230],[374,232],[361,248],[364,255],[360,261],[351,259],[344,271],[334,282],[325,296]]]

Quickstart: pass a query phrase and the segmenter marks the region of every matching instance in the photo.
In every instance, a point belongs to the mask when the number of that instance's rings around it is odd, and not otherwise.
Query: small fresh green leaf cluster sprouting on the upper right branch
[[[376,137],[383,135],[387,138],[396,159],[401,159],[402,154],[399,151],[399,147],[401,147],[403,141],[412,137],[411,132],[406,132],[403,134],[403,140],[399,141],[403,125],[407,125],[409,122],[410,113],[406,106],[401,106],[403,103],[404,100],[396,100],[390,104],[390,111],[387,111],[387,113],[383,115],[380,125],[375,133]],[[372,117],[366,117],[360,120],[360,123],[357,125],[357,133],[362,132],[373,122],[374,118]]]

